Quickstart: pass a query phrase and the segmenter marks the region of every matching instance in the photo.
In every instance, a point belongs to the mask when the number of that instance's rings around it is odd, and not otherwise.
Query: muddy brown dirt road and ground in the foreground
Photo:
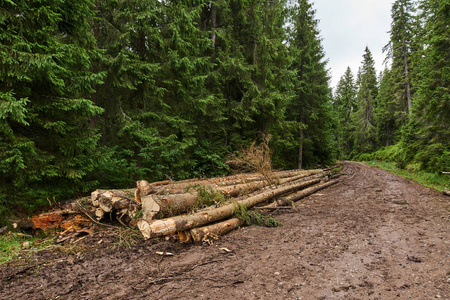
[[[98,232],[37,252],[0,266],[0,299],[450,299],[450,197],[360,163],[343,172],[273,212],[281,227],[131,248]]]

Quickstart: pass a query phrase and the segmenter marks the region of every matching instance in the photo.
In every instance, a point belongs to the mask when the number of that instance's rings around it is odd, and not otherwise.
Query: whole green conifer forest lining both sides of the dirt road
[[[136,180],[381,159],[450,171],[450,3],[396,0],[335,91],[310,0],[0,0],[0,214]],[[356,78],[355,78],[356,77]]]

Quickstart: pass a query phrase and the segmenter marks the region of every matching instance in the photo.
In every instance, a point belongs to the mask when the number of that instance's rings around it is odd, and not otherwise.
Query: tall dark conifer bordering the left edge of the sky
[[[331,159],[331,90],[315,10],[307,0],[291,8],[289,48],[292,56],[294,96],[289,120],[298,129],[297,167]]]

